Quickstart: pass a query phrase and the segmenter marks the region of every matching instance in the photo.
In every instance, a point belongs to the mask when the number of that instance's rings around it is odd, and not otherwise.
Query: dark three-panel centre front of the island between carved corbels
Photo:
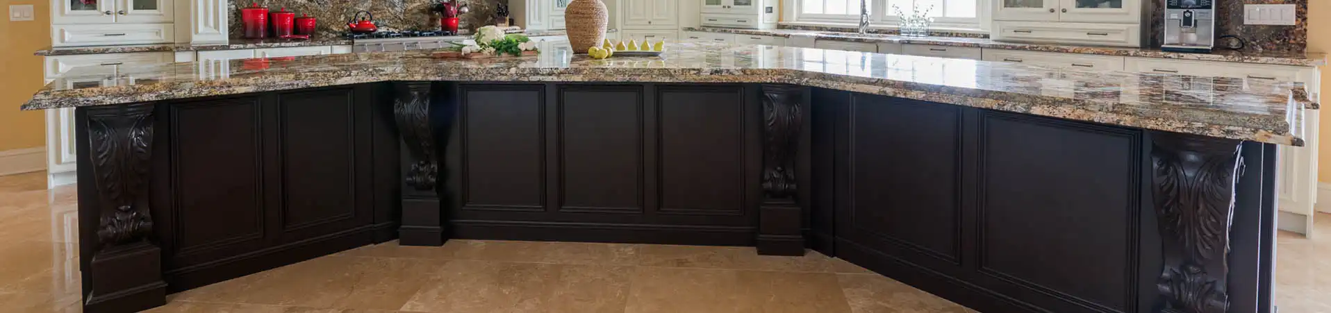
[[[455,237],[752,245],[752,87],[450,85]]]

